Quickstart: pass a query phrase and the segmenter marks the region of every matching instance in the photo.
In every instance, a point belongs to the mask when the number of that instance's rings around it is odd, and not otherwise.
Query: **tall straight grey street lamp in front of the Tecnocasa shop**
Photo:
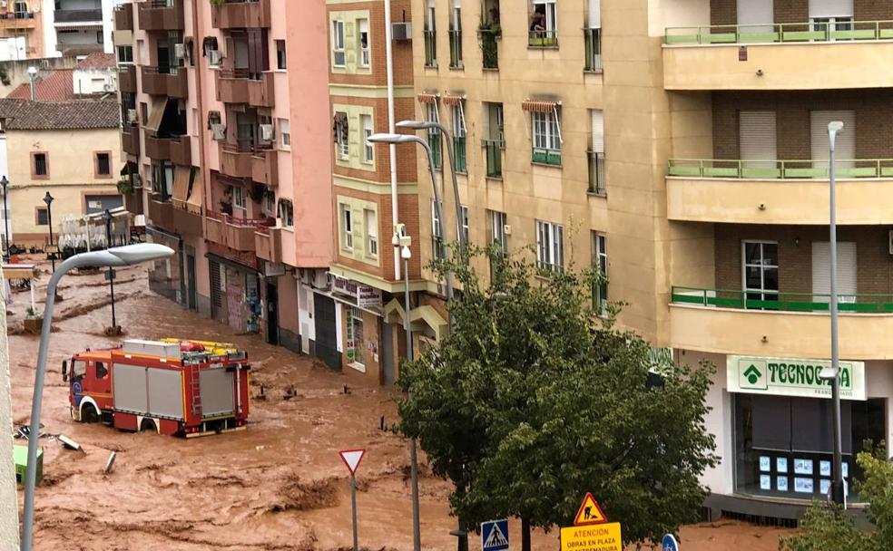
[[[831,401],[834,409],[834,476],[831,479],[831,500],[846,507],[847,498],[843,488],[843,443],[840,436],[842,432],[840,422],[840,358],[838,349],[838,297],[837,297],[837,198],[835,196],[836,174],[834,164],[834,142],[837,135],[843,131],[843,122],[833,121],[828,125],[829,139],[829,203],[830,203],[830,237],[831,249],[831,366],[824,367],[819,372],[819,378],[831,382]]]

